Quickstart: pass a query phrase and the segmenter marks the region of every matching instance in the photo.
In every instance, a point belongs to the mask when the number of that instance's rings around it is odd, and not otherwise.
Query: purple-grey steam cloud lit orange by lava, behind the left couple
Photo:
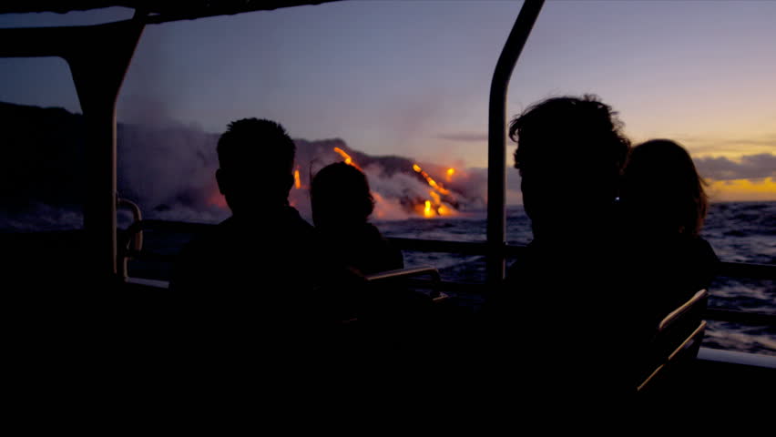
[[[137,201],[148,217],[185,221],[219,221],[228,216],[218,193],[218,134],[197,127],[125,126],[119,130],[118,182],[122,196]],[[413,170],[414,161],[401,157],[373,157],[353,150],[339,138],[295,140],[296,169],[301,188],[291,188],[291,204],[311,217],[307,188],[324,166],[342,161],[334,151],[343,150],[362,168],[375,194],[375,219],[406,219],[414,208],[429,198],[431,188]],[[481,208],[485,205],[485,179],[481,172],[459,170],[456,178],[444,181],[446,168],[424,165],[445,188],[447,208]]]

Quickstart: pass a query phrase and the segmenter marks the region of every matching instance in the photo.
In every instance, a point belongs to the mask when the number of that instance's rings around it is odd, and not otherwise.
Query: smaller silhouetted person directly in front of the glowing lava
[[[374,199],[366,176],[338,162],[322,168],[311,183],[312,222],[329,262],[368,275],[402,269],[402,252],[369,223]]]

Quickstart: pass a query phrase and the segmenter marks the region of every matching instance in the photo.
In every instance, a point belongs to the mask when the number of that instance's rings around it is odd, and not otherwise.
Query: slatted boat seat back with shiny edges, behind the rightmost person
[[[699,290],[660,320],[644,355],[647,371],[638,381],[638,392],[676,390],[683,385],[706,330],[702,314],[708,297],[708,290]]]

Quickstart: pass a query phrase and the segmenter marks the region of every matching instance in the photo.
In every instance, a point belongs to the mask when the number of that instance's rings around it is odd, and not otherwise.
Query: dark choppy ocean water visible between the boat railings
[[[485,212],[454,218],[407,219],[375,223],[386,237],[485,241]],[[507,209],[506,238],[510,244],[532,239],[530,220],[523,208]],[[722,261],[776,264],[776,202],[733,202],[710,206],[702,237]],[[408,267],[432,265],[444,280],[482,282],[485,257],[450,253],[404,251]],[[776,314],[773,279],[720,277],[710,287],[710,307]],[[704,346],[730,351],[776,355],[776,327],[747,326],[709,320]]]

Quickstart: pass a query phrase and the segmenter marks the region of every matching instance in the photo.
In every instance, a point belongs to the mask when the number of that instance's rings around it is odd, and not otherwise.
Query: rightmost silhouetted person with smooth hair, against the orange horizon
[[[687,150],[673,141],[651,140],[630,152],[621,203],[638,266],[640,340],[716,276],[719,259],[699,236],[708,207],[703,185]]]

